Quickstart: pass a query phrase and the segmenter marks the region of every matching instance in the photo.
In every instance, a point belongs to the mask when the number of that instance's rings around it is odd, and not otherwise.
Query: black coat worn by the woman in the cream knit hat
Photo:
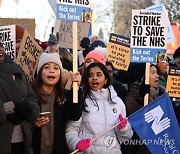
[[[53,154],[69,154],[66,138],[65,138],[65,124],[67,120],[79,120],[82,115],[82,104],[79,102],[73,103],[72,90],[68,91],[65,103],[58,104],[54,102],[54,149]],[[39,101],[39,105],[41,105]],[[41,149],[41,127],[33,129],[33,150],[34,154],[40,154]]]

